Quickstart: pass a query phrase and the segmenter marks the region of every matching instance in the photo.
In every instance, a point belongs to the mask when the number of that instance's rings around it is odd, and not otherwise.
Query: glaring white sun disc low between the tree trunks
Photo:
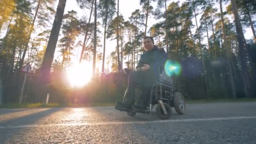
[[[92,77],[91,66],[88,63],[75,64],[67,69],[67,78],[72,87],[86,85]]]

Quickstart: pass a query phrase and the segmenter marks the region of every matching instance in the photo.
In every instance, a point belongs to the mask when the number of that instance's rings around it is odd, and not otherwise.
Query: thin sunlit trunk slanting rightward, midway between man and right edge
[[[193,0],[194,2],[194,0]],[[195,13],[195,8],[193,8],[193,11]],[[197,26],[197,15],[195,13],[195,22],[196,22],[196,26]],[[204,75],[204,81],[205,81],[205,89],[206,89],[206,94],[207,97],[209,96],[209,90],[208,90],[208,81],[207,81],[207,77],[206,77],[206,73],[205,73],[205,61],[204,61],[204,56],[203,56],[203,49],[202,49],[202,45],[201,45],[201,38],[200,38],[200,32],[197,26],[197,38],[199,41],[199,47],[200,47],[200,51],[201,51],[201,59],[202,59],[202,65],[203,65],[203,75]]]

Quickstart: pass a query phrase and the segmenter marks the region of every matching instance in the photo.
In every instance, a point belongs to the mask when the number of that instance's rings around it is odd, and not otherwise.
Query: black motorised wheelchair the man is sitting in
[[[138,88],[139,87],[136,87],[136,97]],[[125,93],[126,92],[127,89]],[[123,98],[123,101],[124,100],[125,97]],[[174,107],[179,115],[183,115],[186,111],[184,96],[175,90],[172,78],[169,77],[165,71],[162,71],[159,80],[157,80],[150,89],[150,98],[147,102],[147,107],[139,113],[151,115],[155,112],[160,119],[166,120],[171,117],[171,107]],[[131,107],[131,110],[126,109],[121,111],[126,111],[129,116],[134,116],[137,113],[134,111],[134,104]]]

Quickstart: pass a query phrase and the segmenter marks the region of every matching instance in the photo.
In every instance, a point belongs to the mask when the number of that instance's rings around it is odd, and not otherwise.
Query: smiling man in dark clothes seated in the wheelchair
[[[134,106],[134,110],[141,112],[147,107],[150,96],[150,89],[159,79],[159,67],[165,64],[168,54],[154,45],[152,37],[144,37],[143,46],[146,52],[141,55],[139,64],[135,72],[131,72],[128,79],[128,87],[123,101],[117,101],[115,108],[119,110],[129,110],[136,99],[135,88],[140,87],[142,94]]]

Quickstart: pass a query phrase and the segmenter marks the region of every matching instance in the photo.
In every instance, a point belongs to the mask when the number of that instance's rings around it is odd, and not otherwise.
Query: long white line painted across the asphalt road
[[[147,123],[175,123],[175,122],[197,122],[197,121],[215,121],[215,120],[242,120],[256,119],[251,117],[216,117],[201,119],[179,119],[179,120],[155,120],[155,121],[131,121],[131,122],[98,122],[98,123],[60,123],[47,125],[17,125],[17,126],[0,126],[0,128],[33,128],[33,127],[52,127],[52,126],[93,126],[93,125],[122,125],[122,124],[147,124]]]

